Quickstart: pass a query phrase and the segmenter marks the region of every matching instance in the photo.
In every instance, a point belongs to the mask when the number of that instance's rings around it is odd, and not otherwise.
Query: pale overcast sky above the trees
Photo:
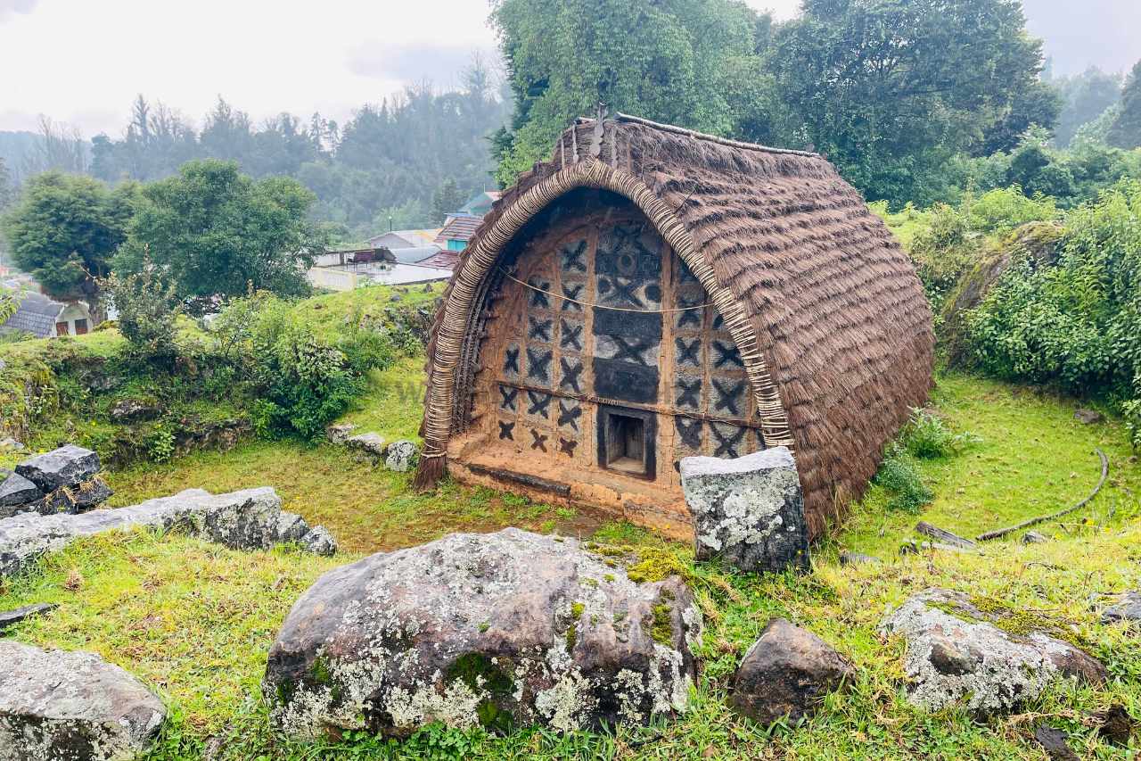
[[[778,18],[799,0],[747,0]],[[1025,0],[1057,73],[1141,57],[1141,0]],[[0,130],[38,114],[118,136],[138,93],[195,123],[222,95],[256,119],[343,121],[492,55],[486,0],[0,0]]]

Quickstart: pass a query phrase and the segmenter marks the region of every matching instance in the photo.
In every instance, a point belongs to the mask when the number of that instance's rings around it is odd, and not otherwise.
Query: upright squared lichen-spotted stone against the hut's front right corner
[[[682,457],[681,489],[694,516],[698,560],[745,571],[808,568],[808,524],[787,447],[721,459]]]

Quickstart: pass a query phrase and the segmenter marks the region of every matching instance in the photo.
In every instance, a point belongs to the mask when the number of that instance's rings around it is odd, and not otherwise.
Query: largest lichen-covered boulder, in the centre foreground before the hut
[[[701,616],[573,539],[453,534],[325,574],[269,651],[274,724],[403,736],[442,721],[557,730],[682,711]]]

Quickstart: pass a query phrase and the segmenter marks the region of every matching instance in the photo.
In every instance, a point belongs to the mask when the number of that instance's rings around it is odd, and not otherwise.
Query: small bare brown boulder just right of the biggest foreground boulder
[[[762,724],[785,716],[798,722],[855,674],[851,664],[816,634],[774,618],[737,667],[729,704]]]

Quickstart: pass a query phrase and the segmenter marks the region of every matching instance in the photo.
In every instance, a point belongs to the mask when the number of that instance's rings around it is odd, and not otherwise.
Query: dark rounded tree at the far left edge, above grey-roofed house
[[[92,309],[98,279],[127,238],[137,186],[114,191],[90,177],[49,171],[27,181],[3,231],[16,266],[57,298],[84,298]]]

